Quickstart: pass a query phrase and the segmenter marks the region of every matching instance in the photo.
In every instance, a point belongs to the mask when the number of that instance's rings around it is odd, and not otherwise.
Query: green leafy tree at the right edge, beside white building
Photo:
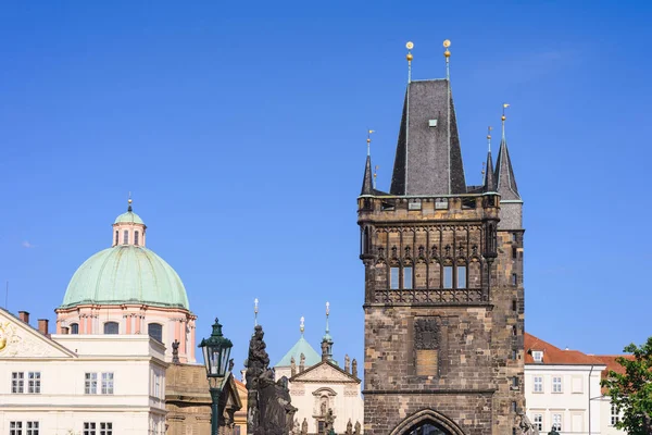
[[[611,370],[602,386],[623,415],[617,428],[629,435],[652,435],[652,337],[641,347],[631,344],[624,351],[631,357],[618,357],[616,362],[625,373]]]

